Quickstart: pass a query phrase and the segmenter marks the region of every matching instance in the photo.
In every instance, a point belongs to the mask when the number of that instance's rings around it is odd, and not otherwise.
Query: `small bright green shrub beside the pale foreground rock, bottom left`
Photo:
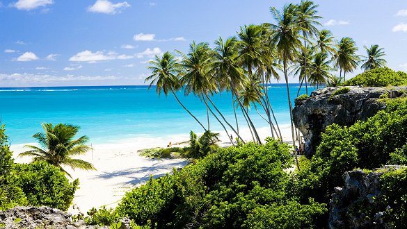
[[[88,217],[84,219],[87,225],[111,226],[120,219],[117,212],[112,208],[107,209],[106,207],[102,207],[99,210],[93,207],[87,214]]]

